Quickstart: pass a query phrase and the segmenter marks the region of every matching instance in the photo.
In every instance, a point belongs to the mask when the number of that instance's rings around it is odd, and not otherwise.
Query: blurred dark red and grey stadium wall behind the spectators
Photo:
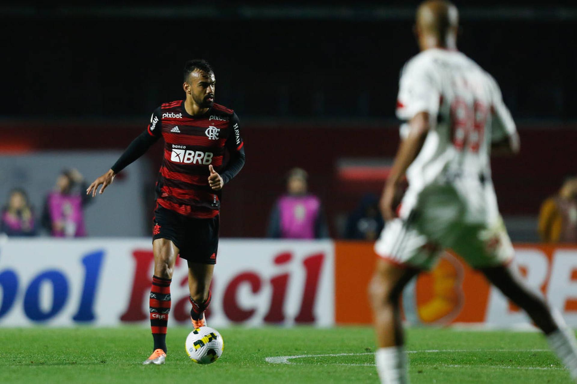
[[[141,124],[126,125],[0,122],[0,199],[5,201],[10,189],[24,187],[40,209],[42,198],[63,168],[76,167],[87,180],[95,179],[108,170],[146,124],[145,118]],[[45,140],[48,129],[51,140]],[[329,235],[342,238],[347,216],[359,201],[366,194],[380,195],[399,144],[398,125],[390,122],[242,121],[241,131],[246,165],[223,190],[223,237],[265,236],[275,201],[286,190],[287,172],[301,167],[309,174],[309,191],[323,203]],[[575,162],[569,154],[574,152],[577,129],[572,124],[533,123],[520,124],[519,131],[520,155],[493,159],[492,179],[511,238],[537,242],[542,202],[557,193],[567,175],[575,174]],[[74,154],[86,161],[74,160]],[[36,156],[42,161],[34,160]],[[89,236],[150,234],[153,186],[162,156],[159,141],[87,207]],[[263,175],[267,175],[266,186]],[[139,212],[131,208],[136,204],[141,207]]]

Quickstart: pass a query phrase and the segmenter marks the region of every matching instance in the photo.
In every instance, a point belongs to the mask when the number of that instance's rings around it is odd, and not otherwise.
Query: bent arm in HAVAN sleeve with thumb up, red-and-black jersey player
[[[212,165],[208,166],[211,171],[211,175],[208,176],[208,184],[215,191],[222,189],[226,183],[238,175],[238,172],[240,172],[245,165],[245,142],[241,137],[240,122],[237,114],[233,114],[230,118],[230,132],[224,146],[226,146],[228,153],[230,153],[230,159],[226,167],[218,173]]]

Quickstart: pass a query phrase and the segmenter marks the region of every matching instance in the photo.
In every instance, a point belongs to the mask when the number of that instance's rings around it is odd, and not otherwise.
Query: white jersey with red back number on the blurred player
[[[459,51],[426,50],[404,66],[396,114],[419,112],[429,112],[430,131],[407,170],[413,194],[454,175],[490,178],[491,142],[516,129],[497,82]]]

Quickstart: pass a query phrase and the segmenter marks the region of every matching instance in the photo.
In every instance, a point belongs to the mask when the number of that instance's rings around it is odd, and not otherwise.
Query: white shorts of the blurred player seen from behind
[[[374,250],[392,263],[425,270],[434,266],[444,249],[454,250],[477,269],[508,263],[514,250],[496,199],[494,206],[493,199],[484,201],[491,205],[484,210],[492,214],[484,214],[486,220],[471,220],[470,204],[458,190],[429,189],[406,217],[385,225]]]

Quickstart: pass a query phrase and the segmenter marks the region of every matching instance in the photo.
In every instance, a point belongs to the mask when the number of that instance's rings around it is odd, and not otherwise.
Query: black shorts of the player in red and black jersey
[[[216,263],[219,215],[212,219],[195,219],[158,206],[154,216],[152,241],[171,240],[180,250],[180,257],[188,261]]]

